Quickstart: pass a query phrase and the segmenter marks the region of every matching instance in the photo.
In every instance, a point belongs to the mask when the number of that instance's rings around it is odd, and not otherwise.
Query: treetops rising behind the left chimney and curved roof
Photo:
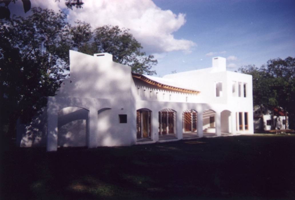
[[[128,32],[128,29],[119,29],[118,26],[97,27],[93,32],[91,26],[85,22],[76,22],[70,28],[73,47],[82,53],[110,53],[114,62],[129,65],[133,72],[155,74],[151,71],[158,62],[153,55],[146,56],[141,44]]]

